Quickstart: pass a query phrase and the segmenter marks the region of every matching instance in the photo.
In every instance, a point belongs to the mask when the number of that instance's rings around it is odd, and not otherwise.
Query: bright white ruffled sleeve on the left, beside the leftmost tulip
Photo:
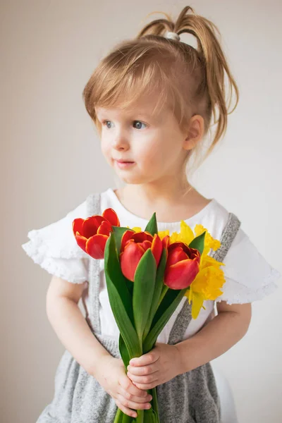
[[[71,283],[87,281],[89,256],[78,246],[72,231],[73,219],[86,219],[86,214],[85,201],[63,219],[29,231],[30,241],[22,245],[23,250],[51,275]]]

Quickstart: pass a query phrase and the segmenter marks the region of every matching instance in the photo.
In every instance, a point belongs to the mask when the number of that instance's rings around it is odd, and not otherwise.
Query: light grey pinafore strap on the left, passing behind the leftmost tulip
[[[90,194],[86,200],[87,216],[102,214],[101,196],[99,192]],[[92,330],[101,333],[101,321],[99,316],[99,288],[100,288],[100,260],[89,257],[89,295],[90,295],[90,321]]]

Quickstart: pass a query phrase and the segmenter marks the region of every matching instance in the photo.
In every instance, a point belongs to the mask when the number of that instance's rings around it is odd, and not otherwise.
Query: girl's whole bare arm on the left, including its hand
[[[84,288],[83,283],[54,276],[47,293],[49,321],[75,360],[98,380],[126,415],[133,417],[133,410],[145,409],[151,399],[128,379],[123,360],[108,353],[90,330],[78,307]]]

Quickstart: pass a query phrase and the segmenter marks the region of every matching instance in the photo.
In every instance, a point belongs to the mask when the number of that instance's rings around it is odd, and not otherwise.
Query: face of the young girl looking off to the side
[[[95,108],[102,124],[102,153],[125,183],[152,183],[178,176],[188,153],[185,135],[172,112],[164,108],[153,116],[154,98],[150,100],[126,110]],[[122,165],[118,160],[133,163]]]

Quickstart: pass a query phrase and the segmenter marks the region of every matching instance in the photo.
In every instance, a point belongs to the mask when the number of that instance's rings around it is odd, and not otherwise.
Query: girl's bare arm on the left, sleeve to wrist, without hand
[[[108,351],[93,335],[78,302],[85,289],[83,283],[70,283],[53,276],[47,291],[47,317],[61,343],[75,360],[94,375],[95,365]]]

